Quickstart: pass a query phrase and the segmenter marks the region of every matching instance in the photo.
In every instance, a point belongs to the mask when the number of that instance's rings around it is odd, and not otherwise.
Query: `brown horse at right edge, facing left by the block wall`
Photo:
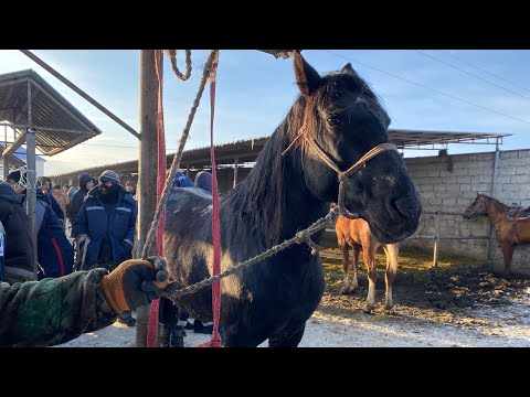
[[[506,275],[511,272],[511,258],[516,246],[530,243],[530,216],[522,214],[522,207],[510,207],[486,194],[478,193],[477,198],[464,215],[465,219],[470,219],[473,215],[488,216],[502,250]]]

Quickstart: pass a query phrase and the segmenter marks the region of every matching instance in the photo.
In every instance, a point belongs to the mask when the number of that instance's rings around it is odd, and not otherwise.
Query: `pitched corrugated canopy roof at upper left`
[[[28,82],[31,83],[31,126]],[[34,128],[36,149],[44,155],[61,153],[102,133],[33,69],[0,75],[0,121],[3,120],[20,130]]]

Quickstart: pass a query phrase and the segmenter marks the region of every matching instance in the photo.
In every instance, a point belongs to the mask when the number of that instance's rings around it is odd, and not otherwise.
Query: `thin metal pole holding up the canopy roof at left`
[[[39,270],[36,265],[36,219],[35,219],[35,207],[36,207],[36,190],[35,190],[35,130],[31,128],[31,81],[28,81],[28,125],[30,128],[25,131],[25,163],[28,165],[28,182],[29,186],[25,190],[25,200],[26,200],[26,214],[30,222],[31,238],[33,240],[33,247],[35,249],[35,261],[33,264],[33,277],[36,280],[36,272]]]

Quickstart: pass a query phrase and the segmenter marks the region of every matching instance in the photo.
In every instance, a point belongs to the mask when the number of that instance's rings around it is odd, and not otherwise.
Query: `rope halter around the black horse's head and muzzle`
[[[377,147],[373,147],[370,149],[367,153],[364,153],[353,165],[351,165],[348,170],[341,171],[340,168],[337,165],[337,163],[324,151],[322,148],[317,143],[317,141],[312,137],[308,137],[306,133],[306,125],[301,126],[300,130],[298,131],[298,135],[296,138],[293,140],[293,142],[289,143],[287,149],[285,149],[282,152],[282,155],[284,157],[287,154],[287,152],[293,148],[295,142],[299,138],[304,138],[306,142],[309,144],[312,150],[317,153],[317,155],[322,160],[331,170],[337,172],[337,175],[339,176],[339,196],[337,200],[337,207],[338,212],[340,215],[346,216],[350,219],[359,218],[359,214],[352,214],[344,207],[344,182],[348,181],[348,178],[351,176],[354,172],[357,172],[360,168],[364,167],[364,164],[373,159],[375,155],[381,154],[382,152],[386,150],[395,150],[398,151],[398,148],[390,142],[385,143],[380,143]]]

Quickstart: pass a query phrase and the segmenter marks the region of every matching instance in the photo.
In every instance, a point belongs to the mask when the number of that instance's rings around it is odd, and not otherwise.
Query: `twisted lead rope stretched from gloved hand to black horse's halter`
[[[290,247],[292,245],[295,245],[295,244],[306,243],[311,247],[311,250],[312,250],[314,247],[308,243],[308,242],[312,243],[312,240],[310,239],[310,236],[312,236],[318,230],[332,225],[337,215],[338,215],[337,208],[330,210],[329,213],[326,216],[321,217],[320,219],[315,222],[312,225],[310,225],[306,229],[304,229],[301,232],[298,232],[295,235],[295,237],[293,237],[288,240],[285,240],[284,243],[278,244],[278,245],[267,249],[266,251],[264,251],[259,255],[256,255],[255,257],[253,257],[251,259],[247,259],[243,262],[234,265],[230,269],[227,269],[227,270],[225,270],[225,271],[223,271],[219,275],[212,276],[208,279],[195,282],[194,285],[191,285],[189,287],[186,287],[186,288],[182,288],[182,289],[179,289],[179,290],[176,290],[176,291],[162,292],[161,296],[165,297],[165,298],[174,299],[174,298],[178,298],[178,297],[181,297],[181,296],[184,296],[184,294],[194,293],[198,290],[200,290],[201,288],[211,286],[213,282],[215,282],[218,280],[221,280],[222,278],[229,277],[230,275],[233,275],[236,271],[246,269],[246,268],[251,267],[252,265],[258,264],[262,260],[264,260],[268,257],[272,257],[273,255],[276,255],[280,250],[284,250],[284,249],[286,249],[286,248],[288,248],[288,247]],[[312,244],[315,244],[315,243],[312,243]]]

